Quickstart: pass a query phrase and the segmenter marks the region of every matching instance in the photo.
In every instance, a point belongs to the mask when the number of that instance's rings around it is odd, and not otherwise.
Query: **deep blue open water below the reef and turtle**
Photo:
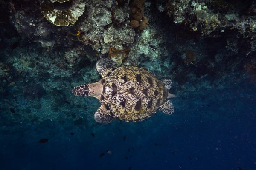
[[[174,114],[138,123],[20,122],[15,131],[1,132],[0,169],[255,170],[256,86],[247,79],[223,84],[177,94]],[[93,114],[84,117],[93,120]],[[42,138],[49,141],[38,143]]]

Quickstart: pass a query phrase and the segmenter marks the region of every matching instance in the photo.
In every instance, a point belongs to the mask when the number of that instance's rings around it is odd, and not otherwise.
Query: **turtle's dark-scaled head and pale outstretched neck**
[[[92,96],[100,99],[100,95],[102,94],[102,83],[99,81],[92,84],[78,85],[73,88],[72,93],[76,96]]]

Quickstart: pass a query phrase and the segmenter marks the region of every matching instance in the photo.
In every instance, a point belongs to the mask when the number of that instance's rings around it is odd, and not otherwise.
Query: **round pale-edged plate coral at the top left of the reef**
[[[59,1],[58,1],[59,2]],[[74,24],[78,17],[84,13],[85,3],[81,0],[72,1],[72,5],[68,7],[65,0],[61,0],[61,7],[56,8],[59,5],[52,3],[49,0],[43,0],[40,4],[40,9],[44,17],[56,26],[68,26]],[[64,8],[64,7],[66,8]]]

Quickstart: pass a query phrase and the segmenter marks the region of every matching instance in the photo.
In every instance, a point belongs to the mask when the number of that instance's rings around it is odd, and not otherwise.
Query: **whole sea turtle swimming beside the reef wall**
[[[99,99],[102,105],[94,114],[96,122],[109,123],[115,119],[138,122],[154,115],[159,108],[163,113],[173,113],[172,102],[167,100],[175,97],[168,92],[172,80],[159,80],[145,68],[116,68],[114,65],[111,59],[100,59],[96,67],[103,78],[99,82],[79,85],[72,90],[76,96]]]

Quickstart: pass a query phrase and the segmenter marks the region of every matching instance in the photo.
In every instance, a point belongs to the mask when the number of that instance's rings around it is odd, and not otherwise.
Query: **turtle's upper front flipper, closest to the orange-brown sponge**
[[[99,74],[102,75],[102,77],[105,77],[110,69],[113,67],[113,65],[115,65],[115,62],[113,60],[108,58],[102,58],[97,62],[96,67]]]

